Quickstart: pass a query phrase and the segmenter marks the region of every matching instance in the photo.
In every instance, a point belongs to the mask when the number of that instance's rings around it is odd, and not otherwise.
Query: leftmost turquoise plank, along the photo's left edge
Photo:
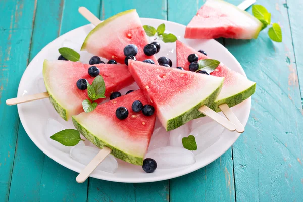
[[[7,201],[19,116],[17,107],[5,105],[5,100],[17,95],[19,81],[27,65],[35,2],[1,1],[0,11],[0,201]]]

